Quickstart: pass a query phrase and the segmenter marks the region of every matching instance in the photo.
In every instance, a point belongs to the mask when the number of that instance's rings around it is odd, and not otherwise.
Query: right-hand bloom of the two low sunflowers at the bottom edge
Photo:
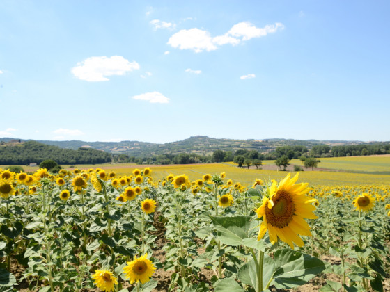
[[[126,278],[130,279],[130,284],[139,281],[141,281],[142,284],[145,284],[150,280],[155,269],[152,261],[148,259],[148,254],[145,254],[138,259],[136,256],[134,261],[127,261],[127,266],[123,268],[123,272],[125,273]]]

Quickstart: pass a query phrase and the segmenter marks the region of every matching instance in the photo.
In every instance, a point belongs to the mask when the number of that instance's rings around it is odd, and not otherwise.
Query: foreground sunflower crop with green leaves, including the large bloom
[[[0,291],[390,291],[389,184],[191,177],[0,169]]]

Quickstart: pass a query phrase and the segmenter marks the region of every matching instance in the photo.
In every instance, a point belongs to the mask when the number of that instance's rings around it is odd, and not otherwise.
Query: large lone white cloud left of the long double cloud
[[[72,74],[85,81],[108,81],[107,76],[124,75],[127,71],[138,70],[139,64],[129,62],[123,56],[101,56],[87,58],[72,68]]]

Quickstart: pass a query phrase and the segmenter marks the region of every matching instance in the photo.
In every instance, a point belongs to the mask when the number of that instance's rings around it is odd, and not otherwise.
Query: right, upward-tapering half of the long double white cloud
[[[239,24],[235,24],[228,31],[228,34],[236,38],[242,37],[242,40],[250,40],[251,38],[263,37],[268,33],[275,33],[278,29],[284,29],[283,24],[277,22],[276,24],[269,24],[259,29],[250,22],[240,22]]]

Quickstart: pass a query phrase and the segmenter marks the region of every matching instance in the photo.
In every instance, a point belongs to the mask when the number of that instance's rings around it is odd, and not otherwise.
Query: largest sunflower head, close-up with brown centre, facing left
[[[311,204],[315,199],[306,196],[311,190],[308,184],[295,184],[297,179],[298,174],[292,179],[288,174],[279,186],[274,181],[269,189],[269,197],[263,197],[263,204],[256,210],[258,218],[263,217],[258,240],[268,230],[271,243],[276,243],[280,238],[293,249],[294,243],[304,246],[302,238],[297,234],[311,236],[310,227],[304,218],[318,218],[313,214],[315,206]]]

